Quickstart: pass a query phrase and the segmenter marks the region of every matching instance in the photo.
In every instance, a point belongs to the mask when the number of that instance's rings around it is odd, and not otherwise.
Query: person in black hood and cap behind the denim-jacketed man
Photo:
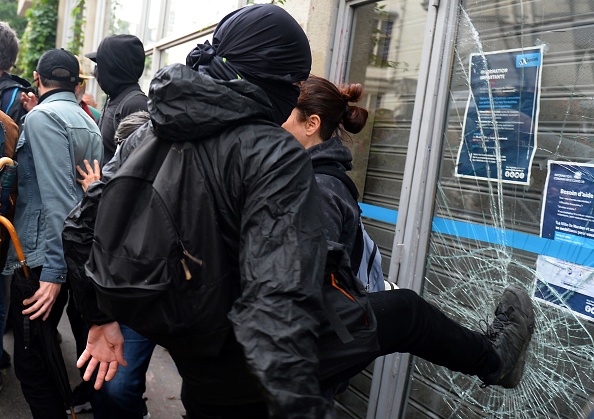
[[[115,153],[114,135],[120,121],[147,110],[146,95],[138,84],[144,71],[144,46],[134,35],[110,35],[96,52],[85,56],[97,64],[94,76],[108,96],[99,118],[107,163]]]

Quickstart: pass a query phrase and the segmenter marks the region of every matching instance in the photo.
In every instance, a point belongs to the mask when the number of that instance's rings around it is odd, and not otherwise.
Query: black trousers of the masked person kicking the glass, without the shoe
[[[498,366],[490,341],[447,317],[411,290],[397,289],[369,294],[377,319],[380,349],[377,353],[353,359],[350,365],[323,383],[330,387],[361,372],[378,356],[395,352],[410,353],[434,364],[469,375],[483,376]],[[178,368],[183,365],[178,363]],[[320,365],[322,375],[325,366]],[[183,373],[182,373],[183,376]],[[182,401],[188,419],[265,418],[264,402],[235,406],[196,403],[184,385]],[[237,413],[241,412],[241,416]]]

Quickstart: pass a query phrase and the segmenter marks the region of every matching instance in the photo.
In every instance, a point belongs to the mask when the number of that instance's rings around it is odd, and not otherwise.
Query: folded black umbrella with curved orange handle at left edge
[[[25,300],[35,294],[35,291],[39,288],[39,278],[36,278],[35,273],[27,266],[27,260],[25,259],[21,243],[12,223],[6,217],[0,216],[0,224],[8,230],[19,263],[21,264],[21,267],[14,271],[12,289],[18,293],[20,300]],[[38,343],[45,366],[51,372],[65,406],[70,408],[70,414],[76,419],[76,414],[72,407],[72,389],[68,380],[68,372],[55,330],[52,329],[49,323],[41,320],[41,318],[29,320],[28,317],[25,317],[23,319],[23,327],[25,346],[30,345],[32,342]]]

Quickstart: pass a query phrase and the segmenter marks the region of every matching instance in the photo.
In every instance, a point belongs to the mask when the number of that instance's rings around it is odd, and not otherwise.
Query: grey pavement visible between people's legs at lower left
[[[66,313],[58,327],[62,335],[62,353],[68,369],[72,388],[80,383],[80,374],[76,368],[76,349],[74,338],[68,324]],[[12,356],[12,333],[4,335],[4,349]],[[23,397],[19,381],[14,375],[13,367],[1,370],[3,387],[0,392],[0,418],[2,419],[30,419],[31,412]],[[180,400],[181,378],[169,353],[157,346],[153,352],[149,369],[146,373],[147,407],[151,419],[181,419],[185,414]],[[70,416],[68,416],[70,418]],[[91,419],[92,413],[78,413],[78,419]]]

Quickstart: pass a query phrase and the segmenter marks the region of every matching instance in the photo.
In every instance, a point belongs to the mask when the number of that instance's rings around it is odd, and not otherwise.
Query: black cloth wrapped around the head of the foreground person
[[[186,64],[220,80],[245,78],[261,87],[284,123],[297,104],[299,88],[311,70],[311,51],[301,26],[271,4],[246,6],[228,14],[215,29],[212,45],[198,44]]]

